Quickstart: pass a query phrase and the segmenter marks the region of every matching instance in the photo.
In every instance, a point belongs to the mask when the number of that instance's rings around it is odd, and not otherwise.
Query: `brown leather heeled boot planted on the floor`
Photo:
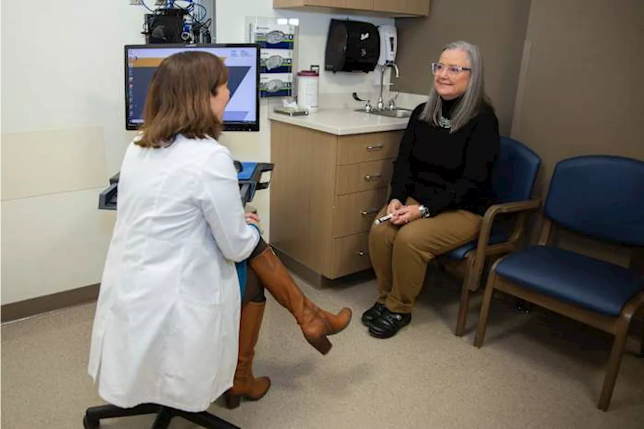
[[[240,406],[242,397],[249,401],[258,401],[269,391],[269,377],[255,378],[252,375],[252,358],[255,355],[255,345],[260,336],[265,306],[265,302],[249,302],[242,307],[240,352],[233,385],[225,394],[227,408]]]

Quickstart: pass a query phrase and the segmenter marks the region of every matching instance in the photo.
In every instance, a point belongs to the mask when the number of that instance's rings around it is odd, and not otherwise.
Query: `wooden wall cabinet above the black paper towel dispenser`
[[[427,16],[431,0],[273,0],[273,8],[322,12],[376,12],[387,16]]]

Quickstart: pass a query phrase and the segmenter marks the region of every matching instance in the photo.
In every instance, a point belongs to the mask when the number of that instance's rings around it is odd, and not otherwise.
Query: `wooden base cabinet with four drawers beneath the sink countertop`
[[[386,202],[402,135],[336,136],[273,121],[270,243],[276,251],[328,279],[370,268],[368,231]]]

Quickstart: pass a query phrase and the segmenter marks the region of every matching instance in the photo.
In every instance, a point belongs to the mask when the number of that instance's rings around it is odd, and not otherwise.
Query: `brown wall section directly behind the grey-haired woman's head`
[[[530,0],[433,0],[430,16],[397,19],[401,79],[396,90],[428,93],[430,63],[456,40],[477,44],[484,58],[486,91],[500,129],[509,134]]]

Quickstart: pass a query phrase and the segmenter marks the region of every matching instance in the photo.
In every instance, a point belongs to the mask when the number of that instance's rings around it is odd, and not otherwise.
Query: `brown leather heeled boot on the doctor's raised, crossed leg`
[[[249,266],[263,287],[295,317],[308,343],[321,354],[327,354],[332,347],[327,336],[348,326],[351,310],[345,308],[331,314],[308,300],[270,246],[249,260]]]

